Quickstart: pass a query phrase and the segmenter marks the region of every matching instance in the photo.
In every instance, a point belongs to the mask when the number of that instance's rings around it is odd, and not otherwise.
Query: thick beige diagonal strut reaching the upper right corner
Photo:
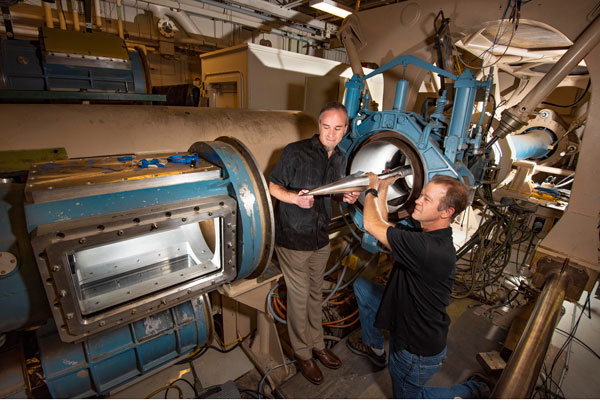
[[[502,119],[494,131],[494,138],[487,144],[489,149],[499,138],[518,131],[529,120],[535,108],[575,68],[600,41],[600,16],[588,25],[569,50],[554,64],[531,92],[516,106],[502,112]]]

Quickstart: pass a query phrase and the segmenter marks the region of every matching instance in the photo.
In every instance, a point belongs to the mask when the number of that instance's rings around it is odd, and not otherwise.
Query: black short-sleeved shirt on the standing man
[[[294,142],[283,154],[269,181],[299,192],[313,189],[343,178],[346,155],[337,146],[331,157],[321,145],[319,136]],[[297,251],[315,251],[329,243],[327,226],[331,219],[331,197],[315,196],[310,209],[277,202],[275,206],[275,244]]]

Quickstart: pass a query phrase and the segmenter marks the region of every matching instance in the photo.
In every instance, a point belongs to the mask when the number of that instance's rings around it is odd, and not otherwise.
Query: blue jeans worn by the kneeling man
[[[374,323],[383,289],[382,285],[362,277],[354,282],[363,343],[379,349],[383,348],[384,337]],[[392,377],[394,398],[488,398],[490,396],[487,385],[472,380],[449,387],[425,386],[429,378],[440,370],[445,357],[446,348],[434,356],[419,356],[405,349],[396,349],[394,339],[390,338],[388,369]]]

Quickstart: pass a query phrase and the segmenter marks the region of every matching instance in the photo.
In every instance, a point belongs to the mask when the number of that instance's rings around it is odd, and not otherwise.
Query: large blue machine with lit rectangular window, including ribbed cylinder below
[[[271,258],[270,196],[241,142],[167,156],[41,163],[0,184],[0,332],[41,326],[52,397],[106,395],[207,344],[206,294]],[[26,396],[7,389],[22,358],[0,361],[2,395]]]

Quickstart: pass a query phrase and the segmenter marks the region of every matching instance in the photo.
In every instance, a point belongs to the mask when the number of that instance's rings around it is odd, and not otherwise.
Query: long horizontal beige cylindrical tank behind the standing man
[[[64,147],[69,158],[144,152],[186,152],[220,136],[239,139],[263,172],[283,147],[317,133],[307,114],[167,106],[0,105],[0,151]]]

